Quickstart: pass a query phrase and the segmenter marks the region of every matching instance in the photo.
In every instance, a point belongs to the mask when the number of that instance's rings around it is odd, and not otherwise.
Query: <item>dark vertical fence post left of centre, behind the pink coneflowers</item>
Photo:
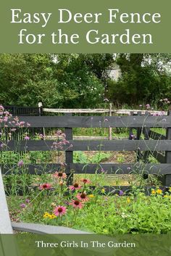
[[[66,113],[65,116],[72,116],[72,113]],[[64,133],[66,134],[67,141],[70,141],[70,140],[73,139],[72,128],[64,128]],[[72,185],[73,175],[70,173],[70,164],[73,163],[73,152],[72,151],[66,151],[65,152],[65,160],[66,160],[67,171],[68,171],[67,183],[68,183],[68,185]]]

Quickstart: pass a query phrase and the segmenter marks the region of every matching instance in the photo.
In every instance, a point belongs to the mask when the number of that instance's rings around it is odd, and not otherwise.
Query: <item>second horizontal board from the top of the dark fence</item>
[[[171,140],[69,141],[60,151],[171,151]],[[9,141],[0,151],[50,151],[54,141]]]

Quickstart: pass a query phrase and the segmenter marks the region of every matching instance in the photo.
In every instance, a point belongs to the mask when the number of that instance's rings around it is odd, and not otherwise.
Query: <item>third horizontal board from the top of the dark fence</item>
[[[42,173],[55,173],[60,169],[61,165],[51,164],[28,164],[24,165],[26,168],[25,173],[30,175],[41,175]],[[103,164],[80,164],[71,163],[67,165],[65,173],[87,173],[95,174],[101,173],[103,170],[106,174],[134,174],[134,173],[149,173],[157,175],[165,175],[171,173],[171,164],[143,164],[140,162],[132,164],[114,164],[114,163],[103,163]],[[1,165],[1,171],[4,175],[10,175],[16,173],[21,175],[23,173],[22,168],[17,168],[17,165]]]

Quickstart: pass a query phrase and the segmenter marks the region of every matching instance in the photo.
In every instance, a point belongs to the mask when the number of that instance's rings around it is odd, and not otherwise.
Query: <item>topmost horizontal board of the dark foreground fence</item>
[[[25,117],[20,116],[20,121],[30,123],[33,128],[141,128],[141,127],[171,127],[171,116],[129,116],[129,117]],[[9,123],[9,127],[14,125]]]

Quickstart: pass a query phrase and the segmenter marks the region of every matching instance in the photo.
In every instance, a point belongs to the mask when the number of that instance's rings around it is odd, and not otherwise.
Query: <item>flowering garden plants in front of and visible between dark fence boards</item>
[[[112,152],[102,152],[101,149],[93,154],[88,151],[75,152],[74,162],[84,163],[83,171],[80,171],[82,174],[74,174],[75,170],[72,170],[68,174],[64,153],[72,145],[67,141],[65,133],[61,130],[54,132],[53,139],[56,138],[51,141],[49,152],[29,152],[29,127],[30,123],[12,117],[1,106],[1,162],[7,170],[4,173],[4,185],[13,221],[67,226],[111,235],[166,234],[170,231],[171,187],[162,190],[157,177],[148,174],[144,178],[144,173],[141,170],[137,173],[133,166],[128,168],[131,170],[127,178],[118,175],[118,170],[110,175],[109,171],[101,167],[101,162],[108,161]],[[20,139],[25,141],[24,151],[19,151],[20,141],[14,141],[13,152],[8,151],[7,136],[18,131]],[[46,144],[43,135],[36,133],[34,140],[42,139]],[[131,158],[126,158],[125,152],[115,152],[115,155],[119,163],[136,159],[135,152],[131,152]],[[46,167],[54,161],[59,164],[57,170],[49,169],[46,173],[42,169],[41,175],[28,174],[30,163],[44,163]],[[151,162],[157,160],[151,157]],[[89,163],[97,165],[94,174],[86,173]],[[122,191],[125,184],[131,186],[131,190]],[[117,185],[118,188],[113,193],[107,191],[107,185]],[[149,186],[148,195],[144,186]]]

